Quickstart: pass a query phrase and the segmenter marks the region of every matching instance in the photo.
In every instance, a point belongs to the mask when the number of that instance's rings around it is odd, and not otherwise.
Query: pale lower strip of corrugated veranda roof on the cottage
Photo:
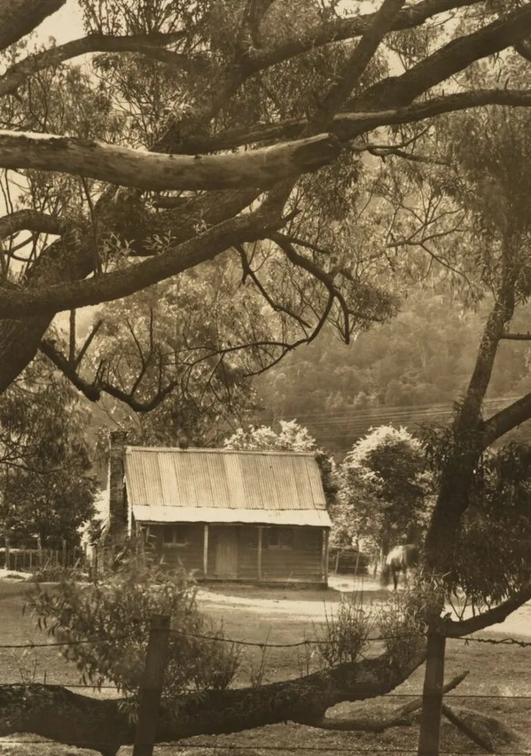
[[[137,522],[238,522],[242,525],[312,525],[330,528],[326,510],[230,510],[222,507],[145,507],[133,504]]]

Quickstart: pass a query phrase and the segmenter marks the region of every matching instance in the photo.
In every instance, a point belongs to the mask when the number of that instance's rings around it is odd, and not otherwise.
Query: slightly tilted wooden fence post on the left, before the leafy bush
[[[132,756],[152,756],[157,736],[164,673],[169,649],[169,620],[167,615],[151,619],[144,680],[140,689],[138,723]]]

